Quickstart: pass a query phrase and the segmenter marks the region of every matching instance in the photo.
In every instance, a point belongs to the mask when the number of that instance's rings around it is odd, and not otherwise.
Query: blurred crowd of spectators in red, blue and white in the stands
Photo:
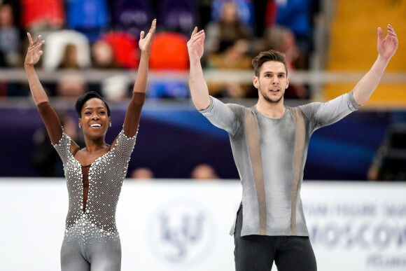
[[[90,84],[87,69],[136,70],[138,39],[157,18],[150,68],[188,71],[186,42],[193,27],[205,29],[206,69],[251,69],[262,50],[286,55],[288,70],[309,69],[313,21],[318,0],[0,0],[0,69],[22,68],[27,32],[41,34],[44,55],[37,65],[46,71],[66,71],[54,83],[44,83],[50,96],[78,97],[95,90],[120,101],[131,93],[126,76]],[[69,71],[69,72],[68,72]],[[148,97],[186,98],[184,82],[153,81]],[[257,97],[252,84],[209,83],[215,97]],[[1,96],[27,96],[22,82],[0,82]],[[287,98],[305,99],[306,85],[291,85]]]

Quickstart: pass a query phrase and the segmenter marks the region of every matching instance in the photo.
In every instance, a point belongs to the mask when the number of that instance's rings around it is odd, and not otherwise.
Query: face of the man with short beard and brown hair
[[[258,88],[259,99],[271,104],[283,102],[283,94],[289,84],[285,65],[276,61],[265,62],[260,67],[260,76],[254,76],[253,84]]]

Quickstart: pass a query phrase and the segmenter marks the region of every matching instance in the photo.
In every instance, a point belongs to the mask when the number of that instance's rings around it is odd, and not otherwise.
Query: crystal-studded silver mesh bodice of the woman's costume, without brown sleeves
[[[119,238],[116,206],[136,137],[137,135],[127,138],[122,130],[116,146],[92,163],[89,169],[89,192],[85,212],[82,166],[70,151],[71,138],[63,134],[59,144],[54,145],[64,163],[69,193],[65,237],[80,237],[84,246],[90,238]]]

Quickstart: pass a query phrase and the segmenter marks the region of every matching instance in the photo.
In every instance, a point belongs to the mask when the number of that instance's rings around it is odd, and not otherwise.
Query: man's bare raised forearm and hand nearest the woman
[[[193,104],[197,110],[207,109],[210,105],[209,89],[204,81],[202,64],[200,59],[204,48],[204,30],[197,32],[197,27],[193,30],[188,41],[188,52],[190,59],[189,88]]]

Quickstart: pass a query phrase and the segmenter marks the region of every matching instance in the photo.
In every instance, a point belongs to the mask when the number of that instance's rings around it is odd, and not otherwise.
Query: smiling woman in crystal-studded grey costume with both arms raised
[[[29,87],[38,112],[48,130],[52,145],[62,158],[69,193],[69,211],[61,249],[63,271],[120,270],[121,245],[116,228],[116,206],[121,186],[134,149],[148,78],[148,59],[156,21],[144,37],[141,32],[141,60],[123,130],[111,143],[104,137],[111,126],[110,109],[97,92],[88,92],[76,101],[79,126],[83,129],[85,148],[80,149],[64,133],[57,114],[38,80],[34,64],[43,52],[44,41],[28,34],[25,58]]]

